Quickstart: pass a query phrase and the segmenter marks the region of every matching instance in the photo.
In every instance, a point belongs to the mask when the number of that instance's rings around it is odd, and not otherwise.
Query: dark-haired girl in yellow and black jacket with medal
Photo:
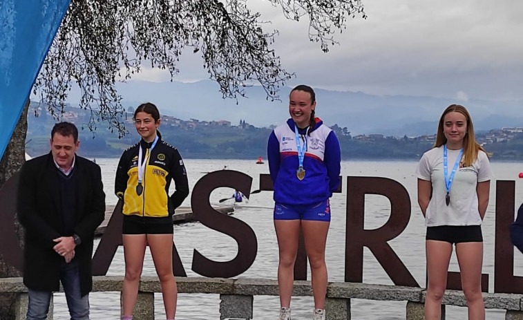
[[[162,286],[165,314],[170,320],[174,319],[178,297],[173,276],[172,215],[189,195],[189,182],[180,153],[162,141],[156,106],[141,104],[133,120],[142,139],[124,151],[115,178],[115,194],[124,201],[122,320],[133,319],[147,245]],[[175,192],[169,196],[171,179],[175,182]]]

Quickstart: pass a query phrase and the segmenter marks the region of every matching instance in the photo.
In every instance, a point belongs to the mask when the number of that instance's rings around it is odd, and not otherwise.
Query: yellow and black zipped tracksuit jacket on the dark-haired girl
[[[151,155],[152,142],[140,140],[126,149],[120,158],[115,178],[115,194],[124,200],[123,214],[129,218],[150,217],[151,222],[171,222],[174,209],[180,207],[189,195],[189,182],[178,149],[158,137]],[[138,152],[142,147],[142,163],[149,156],[143,177],[143,191],[136,192],[138,185]],[[169,197],[171,179],[175,191]],[[158,219],[157,219],[158,218]]]

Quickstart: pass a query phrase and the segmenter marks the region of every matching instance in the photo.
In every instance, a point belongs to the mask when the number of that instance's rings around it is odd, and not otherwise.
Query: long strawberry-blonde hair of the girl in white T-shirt
[[[475,137],[474,137],[474,125],[472,124],[472,119],[470,119],[470,114],[468,113],[467,109],[465,109],[464,106],[459,104],[451,104],[450,106],[443,111],[443,114],[441,115],[441,118],[439,119],[439,124],[437,125],[437,134],[436,134],[436,142],[434,144],[434,147],[441,147],[442,145],[447,143],[447,138],[444,134],[444,119],[445,115],[450,112],[457,112],[461,113],[465,116],[466,122],[467,122],[467,129],[465,136],[463,138],[463,165],[464,167],[470,167],[473,162],[477,159],[477,153],[479,150],[484,151],[487,156],[490,156],[489,153],[483,149],[482,146],[477,143]]]

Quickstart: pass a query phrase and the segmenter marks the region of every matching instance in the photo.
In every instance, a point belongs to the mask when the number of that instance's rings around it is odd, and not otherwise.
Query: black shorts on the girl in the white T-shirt
[[[448,243],[483,242],[481,225],[439,225],[427,227],[426,240]]]

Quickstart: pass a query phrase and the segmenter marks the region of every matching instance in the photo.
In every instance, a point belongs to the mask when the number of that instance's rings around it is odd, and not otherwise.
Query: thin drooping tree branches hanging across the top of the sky
[[[288,19],[307,15],[310,39],[324,52],[347,17],[366,17],[359,0],[270,1]],[[277,30],[265,32],[264,24],[246,0],[72,0],[33,91],[59,117],[68,92],[79,86],[79,106],[91,111],[86,126],[108,124],[122,137],[124,109],[115,84],[140,73],[144,63],[169,70],[172,81],[184,48],[192,48],[223,97],[236,99],[260,84],[275,100],[293,74],[271,48]]]

